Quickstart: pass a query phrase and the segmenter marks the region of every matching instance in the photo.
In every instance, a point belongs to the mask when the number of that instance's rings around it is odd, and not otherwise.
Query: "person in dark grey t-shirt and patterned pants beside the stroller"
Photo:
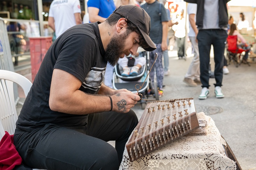
[[[146,3],[141,7],[148,13],[151,19],[150,38],[155,43],[156,49],[149,53],[149,66],[151,67],[155,61],[155,53],[158,54],[156,63],[153,66],[153,71],[150,71],[150,78],[154,84],[154,68],[156,68],[157,86],[159,88],[158,95],[162,97],[164,68],[162,62],[162,54],[167,50],[167,31],[168,31],[168,18],[164,5],[156,0],[145,0]],[[157,88],[157,87],[155,87]]]

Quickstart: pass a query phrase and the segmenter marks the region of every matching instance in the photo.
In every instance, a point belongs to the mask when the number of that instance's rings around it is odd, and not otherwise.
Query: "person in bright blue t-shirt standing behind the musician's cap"
[[[116,5],[113,0],[88,0],[87,6],[90,22],[104,22],[106,18],[108,18],[108,16],[116,9]],[[104,84],[110,88],[113,88],[113,70],[114,67],[108,63]]]

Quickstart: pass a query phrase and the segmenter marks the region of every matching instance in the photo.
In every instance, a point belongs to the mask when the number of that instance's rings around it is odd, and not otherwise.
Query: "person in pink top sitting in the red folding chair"
[[[248,53],[250,52],[250,58],[256,57],[256,54],[251,51],[251,46],[246,43],[246,40],[244,37],[236,30],[236,24],[230,25],[230,30],[228,31],[228,35],[236,35],[238,40],[238,48],[245,50],[245,55],[243,57],[243,60],[248,59]]]

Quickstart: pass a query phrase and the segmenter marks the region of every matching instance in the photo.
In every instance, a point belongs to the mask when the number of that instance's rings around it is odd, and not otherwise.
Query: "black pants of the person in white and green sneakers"
[[[222,86],[223,78],[223,63],[224,63],[224,50],[225,41],[228,34],[223,29],[205,29],[199,30],[197,34],[199,58],[200,58],[200,80],[202,87],[209,88],[209,63],[210,63],[210,50],[213,46],[215,70],[214,76],[216,86]]]

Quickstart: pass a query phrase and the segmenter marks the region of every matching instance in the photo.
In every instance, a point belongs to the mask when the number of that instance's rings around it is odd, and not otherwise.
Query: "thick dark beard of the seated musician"
[[[107,45],[105,59],[107,62],[112,65],[113,67],[118,62],[120,56],[124,54],[124,44],[125,40],[128,37],[128,33],[123,33],[121,35],[114,35],[110,42]]]

